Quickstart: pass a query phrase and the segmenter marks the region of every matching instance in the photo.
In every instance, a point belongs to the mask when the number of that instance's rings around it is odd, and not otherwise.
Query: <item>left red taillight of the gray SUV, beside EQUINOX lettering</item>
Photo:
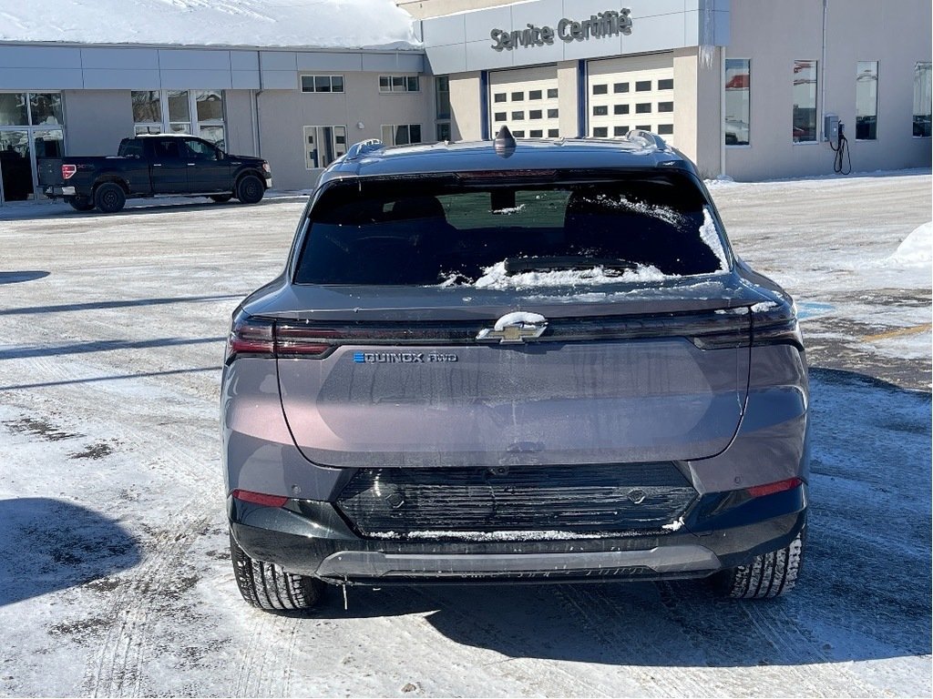
[[[226,363],[240,355],[320,359],[337,347],[342,337],[336,330],[240,313],[230,328]]]

